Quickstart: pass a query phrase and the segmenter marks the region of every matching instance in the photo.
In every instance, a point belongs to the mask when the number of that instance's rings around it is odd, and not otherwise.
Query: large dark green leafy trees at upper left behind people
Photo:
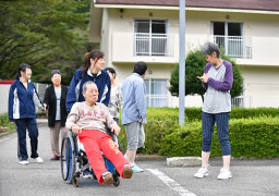
[[[33,81],[49,82],[52,69],[69,84],[88,40],[89,0],[0,1],[0,78],[32,65]]]

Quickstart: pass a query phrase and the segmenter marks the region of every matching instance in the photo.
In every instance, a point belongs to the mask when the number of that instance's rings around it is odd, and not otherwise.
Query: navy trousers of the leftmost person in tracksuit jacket
[[[26,148],[26,128],[28,130],[28,135],[31,138],[31,157],[37,158],[37,148],[38,148],[38,127],[36,119],[17,119],[15,120],[19,145],[17,145],[17,157],[19,160],[27,160],[28,154]]]

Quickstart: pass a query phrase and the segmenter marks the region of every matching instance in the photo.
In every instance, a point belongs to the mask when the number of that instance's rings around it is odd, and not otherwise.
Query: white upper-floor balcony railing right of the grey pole
[[[214,41],[232,58],[252,59],[252,37],[247,36],[214,36]]]

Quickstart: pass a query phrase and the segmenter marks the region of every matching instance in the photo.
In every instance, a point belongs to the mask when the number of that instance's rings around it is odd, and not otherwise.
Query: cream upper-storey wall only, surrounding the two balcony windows
[[[168,34],[174,34],[174,57],[168,62],[179,61],[179,15],[178,11],[163,10],[126,10],[123,13],[119,9],[106,9],[109,12],[109,35],[105,41],[109,41],[106,51],[111,54],[108,64],[117,62],[135,62],[133,57],[133,33],[135,19],[168,20]],[[153,13],[153,16],[149,16]],[[229,17],[229,19],[227,19]],[[223,13],[223,12],[186,12],[186,51],[201,47],[206,41],[211,41],[210,22],[240,22],[244,23],[243,35],[252,36],[253,59],[238,59],[240,64],[275,65],[277,46],[279,45],[279,15]],[[106,24],[108,24],[106,22]],[[107,30],[108,32],[108,30]],[[121,46],[121,47],[119,47]],[[263,53],[264,52],[264,53]],[[260,54],[266,58],[262,58]],[[141,57],[143,58],[143,57]],[[158,62],[160,58],[146,58],[150,62]],[[166,61],[165,61],[166,62]]]

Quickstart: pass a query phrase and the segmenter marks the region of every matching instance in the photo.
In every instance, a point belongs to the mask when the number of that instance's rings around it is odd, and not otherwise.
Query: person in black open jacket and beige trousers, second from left
[[[48,126],[50,131],[50,142],[53,157],[51,160],[59,160],[59,133],[61,131],[61,138],[65,137],[65,98],[68,88],[61,85],[61,73],[59,70],[51,72],[52,85],[46,89],[44,105],[48,109]]]

